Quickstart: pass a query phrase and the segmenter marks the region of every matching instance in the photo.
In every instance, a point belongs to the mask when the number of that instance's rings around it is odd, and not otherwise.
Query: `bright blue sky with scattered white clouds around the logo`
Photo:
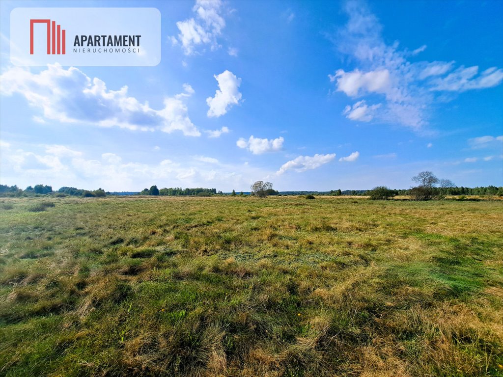
[[[0,182],[106,191],[503,185],[503,2],[120,2],[157,66],[19,67],[0,2]]]

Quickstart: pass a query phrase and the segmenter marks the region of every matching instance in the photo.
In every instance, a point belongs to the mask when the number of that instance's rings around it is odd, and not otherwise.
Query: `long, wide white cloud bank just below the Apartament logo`
[[[102,127],[121,127],[129,130],[171,133],[181,131],[186,136],[201,133],[188,116],[185,97],[194,93],[184,84],[184,92],[164,99],[164,108],[152,109],[128,96],[128,87],[108,89],[105,82],[91,79],[79,69],[64,69],[59,64],[49,65],[40,73],[22,68],[11,68],[2,76],[3,95],[19,93],[28,103],[42,111],[48,120],[63,123],[87,123]]]

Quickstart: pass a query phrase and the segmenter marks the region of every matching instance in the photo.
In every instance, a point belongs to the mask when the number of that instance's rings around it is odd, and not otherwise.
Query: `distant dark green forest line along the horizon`
[[[488,195],[488,196],[503,196],[503,187],[496,186],[483,186],[483,187],[446,187],[440,188],[435,187],[435,190],[439,192],[442,191],[443,195]],[[331,191],[275,191],[269,190],[267,195],[328,195],[328,196],[365,196],[370,190],[331,190]],[[393,195],[410,195],[410,189],[406,190],[390,190]],[[105,197],[111,195],[150,195],[150,196],[244,196],[250,195],[249,192],[236,193],[234,190],[232,193],[223,193],[217,191],[216,189],[204,189],[203,187],[196,188],[186,188],[182,187],[170,187],[157,189],[157,186],[153,185],[150,189],[144,189],[141,192],[105,192],[101,187],[98,190],[84,190],[76,189],[75,187],[61,187],[57,191],[52,190],[52,186],[44,184],[36,184],[34,186],[28,186],[25,190],[20,189],[17,185],[8,186],[6,184],[0,184],[0,196],[1,197],[29,197],[29,196],[41,196],[49,195],[54,197]]]

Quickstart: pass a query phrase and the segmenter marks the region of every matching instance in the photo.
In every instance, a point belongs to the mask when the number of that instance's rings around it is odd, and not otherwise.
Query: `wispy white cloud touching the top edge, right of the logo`
[[[217,37],[225,27],[221,12],[223,3],[220,0],[198,0],[192,11],[195,17],[177,22],[180,33],[178,40],[172,37],[173,44],[182,45],[186,55],[196,52],[197,46],[210,45],[212,50],[218,48]]]

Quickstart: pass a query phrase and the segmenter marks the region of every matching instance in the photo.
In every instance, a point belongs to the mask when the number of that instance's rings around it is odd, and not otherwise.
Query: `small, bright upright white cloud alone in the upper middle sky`
[[[214,75],[218,82],[219,90],[215,92],[215,97],[208,97],[206,103],[210,107],[208,117],[220,117],[227,113],[227,109],[237,105],[241,100],[241,93],[238,88],[241,79],[232,72],[225,70],[219,75]]]

